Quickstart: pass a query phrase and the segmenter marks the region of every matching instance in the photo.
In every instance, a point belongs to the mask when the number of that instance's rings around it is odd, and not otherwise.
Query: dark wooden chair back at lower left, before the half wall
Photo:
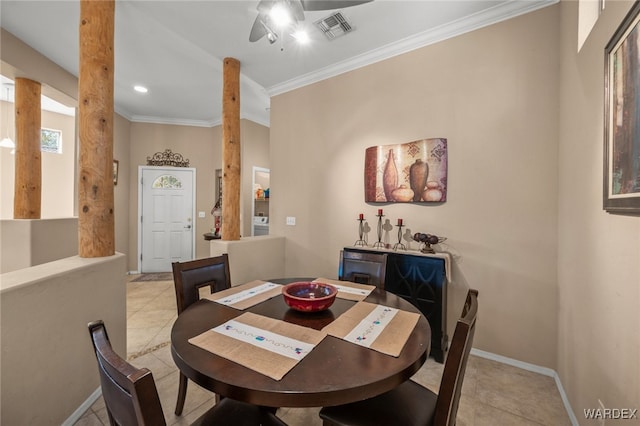
[[[115,353],[102,321],[88,327],[110,422],[121,426],[165,425],[151,371],[138,369]]]

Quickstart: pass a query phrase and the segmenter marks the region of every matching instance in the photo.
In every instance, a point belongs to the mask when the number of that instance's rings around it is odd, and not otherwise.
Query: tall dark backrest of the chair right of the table
[[[477,315],[478,291],[470,289],[461,318],[456,323],[456,329],[451,339],[438,391],[434,425],[454,426],[456,424],[460,392],[476,331]]]

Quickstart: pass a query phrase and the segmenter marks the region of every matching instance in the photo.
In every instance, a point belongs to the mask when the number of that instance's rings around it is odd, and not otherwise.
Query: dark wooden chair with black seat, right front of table
[[[478,291],[469,290],[451,340],[449,355],[437,394],[407,380],[382,395],[352,404],[324,407],[320,417],[325,426],[456,424],[462,381],[473,343],[478,314]]]

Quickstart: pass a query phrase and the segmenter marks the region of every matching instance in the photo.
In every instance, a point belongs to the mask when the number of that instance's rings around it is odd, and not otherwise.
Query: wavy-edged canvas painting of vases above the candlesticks
[[[447,140],[367,148],[364,198],[374,203],[442,203],[447,201]]]

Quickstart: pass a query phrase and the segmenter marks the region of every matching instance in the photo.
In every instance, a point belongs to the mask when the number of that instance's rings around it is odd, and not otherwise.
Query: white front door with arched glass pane
[[[138,175],[140,272],[170,272],[194,257],[195,169],[141,166]]]

